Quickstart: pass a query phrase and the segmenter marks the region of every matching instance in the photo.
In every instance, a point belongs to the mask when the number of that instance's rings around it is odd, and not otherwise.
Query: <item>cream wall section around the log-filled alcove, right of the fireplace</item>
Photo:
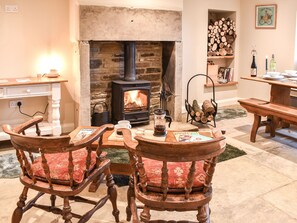
[[[207,67],[207,27],[208,9],[236,11],[237,39],[235,45],[235,80],[238,74],[239,38],[240,38],[240,1],[238,0],[185,0],[183,2],[183,101],[186,98],[186,85],[195,74],[206,73]],[[202,102],[212,98],[212,89],[204,88],[205,79],[196,77],[191,81],[189,101]],[[237,87],[217,87],[216,101],[227,103],[237,97]],[[234,101],[230,101],[234,103]]]

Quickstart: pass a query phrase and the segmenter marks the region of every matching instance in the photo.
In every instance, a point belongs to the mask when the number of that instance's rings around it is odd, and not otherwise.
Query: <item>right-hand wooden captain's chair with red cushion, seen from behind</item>
[[[149,222],[151,209],[197,210],[197,220],[209,223],[212,177],[217,157],[225,150],[221,132],[213,132],[213,139],[200,142],[176,142],[173,134],[171,142],[141,136],[136,136],[135,141],[129,130],[123,130],[123,135],[133,169],[128,189],[127,220],[131,220],[132,215],[133,222]],[[140,206],[136,205],[136,200],[144,204],[140,219],[137,214]]]

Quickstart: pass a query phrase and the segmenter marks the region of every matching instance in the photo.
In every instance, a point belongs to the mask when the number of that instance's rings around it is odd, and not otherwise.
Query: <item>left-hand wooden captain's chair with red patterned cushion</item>
[[[100,140],[108,125],[95,129],[90,135],[81,137],[78,141],[69,135],[58,137],[43,137],[38,123],[42,118],[34,118],[12,129],[3,125],[3,130],[10,135],[12,145],[21,167],[20,181],[24,189],[17,202],[17,208],[12,215],[12,223],[20,222],[31,207],[62,215],[65,223],[72,222],[72,217],[79,222],[87,222],[96,210],[109,199],[113,206],[112,214],[119,222],[119,211],[116,205],[117,191],[113,177],[110,174],[110,160],[105,154],[91,150],[91,144]],[[28,128],[36,128],[36,135],[27,134]],[[102,180],[106,176],[107,194],[99,201],[89,200],[78,196],[92,182]],[[26,202],[29,189],[39,193]],[[44,194],[50,195],[50,205],[37,204]],[[63,208],[56,206],[56,196],[63,199]],[[96,195],[97,196],[97,195]],[[98,196],[99,197],[99,196]],[[94,207],[83,215],[71,212],[70,200],[84,202]]]

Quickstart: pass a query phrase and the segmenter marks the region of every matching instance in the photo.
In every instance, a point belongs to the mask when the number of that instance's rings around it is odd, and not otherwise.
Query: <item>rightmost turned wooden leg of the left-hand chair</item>
[[[117,190],[114,186],[114,181],[113,181],[113,177],[110,173],[110,169],[107,168],[105,170],[105,174],[106,174],[106,185],[108,187],[107,189],[107,193],[109,195],[109,200],[111,201],[111,204],[112,204],[112,208],[113,208],[113,211],[112,211],[112,215],[114,216],[115,218],[115,221],[116,222],[119,222],[119,214],[120,214],[120,211],[119,209],[117,208]]]

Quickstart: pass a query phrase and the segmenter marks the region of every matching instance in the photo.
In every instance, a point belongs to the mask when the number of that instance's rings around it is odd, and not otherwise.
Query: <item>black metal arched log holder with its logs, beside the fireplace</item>
[[[194,100],[192,105],[189,103],[190,82],[196,77],[206,77],[212,83],[212,98],[210,99],[210,101],[205,100],[203,102],[203,105],[201,106],[202,109],[198,105],[198,102],[197,102],[198,100]],[[202,123],[202,124],[209,124],[210,122],[213,122],[213,125],[212,124],[210,124],[210,125],[216,127],[216,119],[215,118],[216,118],[216,114],[217,114],[217,110],[218,110],[218,104],[215,101],[214,82],[208,75],[196,74],[190,78],[190,80],[187,83],[187,98],[185,100],[185,107],[187,110],[187,122],[191,122],[191,124],[193,123],[193,121]],[[189,118],[189,116],[191,118]]]

